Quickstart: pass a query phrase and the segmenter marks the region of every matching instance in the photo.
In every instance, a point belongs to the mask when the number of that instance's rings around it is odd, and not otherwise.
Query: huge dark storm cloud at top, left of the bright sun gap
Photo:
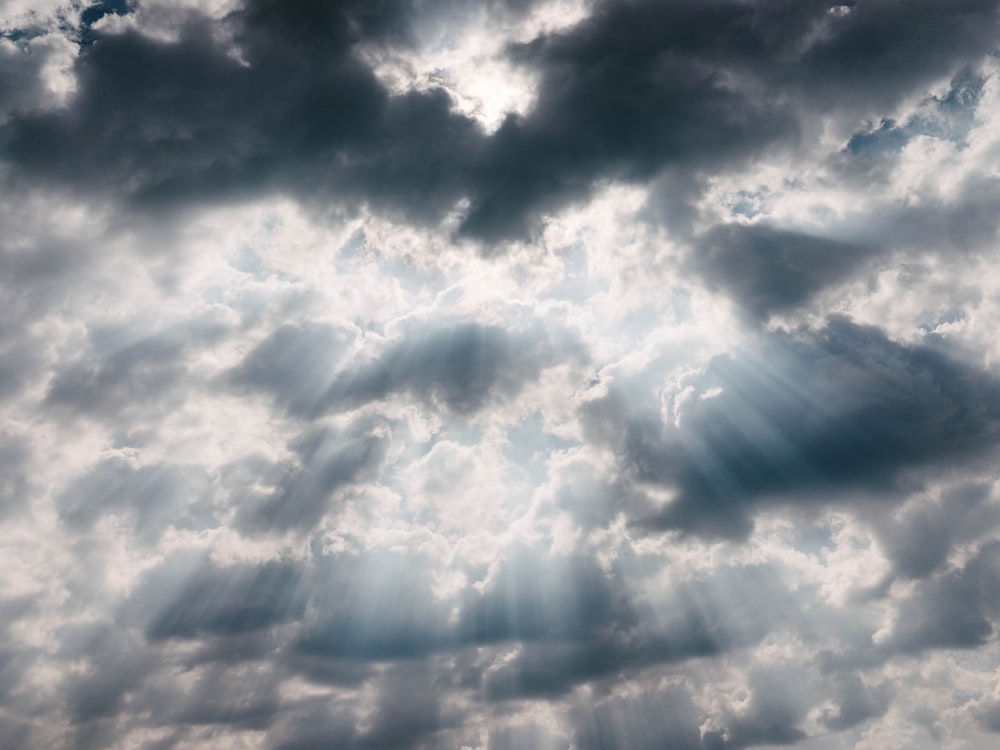
[[[437,218],[481,133],[441,91],[390,96],[355,49],[405,36],[409,6],[251,0],[216,28],[191,13],[176,41],[92,31],[68,109],[13,118],[4,153],[154,213],[276,190]]]

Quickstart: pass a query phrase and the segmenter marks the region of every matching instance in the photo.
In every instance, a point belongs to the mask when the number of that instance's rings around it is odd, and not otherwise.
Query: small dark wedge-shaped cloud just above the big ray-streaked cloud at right
[[[753,318],[794,309],[843,280],[868,248],[763,225],[720,225],[697,242],[689,263]]]

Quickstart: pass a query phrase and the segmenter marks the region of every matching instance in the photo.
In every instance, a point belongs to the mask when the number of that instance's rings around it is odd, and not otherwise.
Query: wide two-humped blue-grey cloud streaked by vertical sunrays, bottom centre
[[[316,603],[297,650],[326,659],[417,659],[466,645],[544,642],[555,652],[565,643],[604,644],[602,631],[632,624],[627,603],[589,557],[510,550],[489,585],[457,601],[434,596],[432,572],[400,554],[325,560],[316,585],[339,596]]]

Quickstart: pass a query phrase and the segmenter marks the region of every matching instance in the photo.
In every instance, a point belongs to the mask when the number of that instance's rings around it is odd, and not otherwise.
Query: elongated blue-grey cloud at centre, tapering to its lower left
[[[508,331],[465,323],[412,333],[371,362],[339,374],[319,409],[343,410],[407,393],[468,414],[517,395],[545,367],[581,356],[568,334],[556,336],[542,326]]]

